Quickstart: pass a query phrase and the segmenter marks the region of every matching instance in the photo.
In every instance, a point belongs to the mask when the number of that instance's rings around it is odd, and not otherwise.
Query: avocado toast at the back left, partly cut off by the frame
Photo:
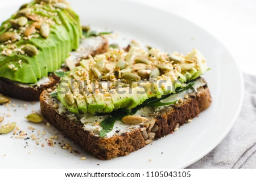
[[[75,57],[72,60],[77,64],[78,58],[108,48],[108,40],[102,36],[81,37],[79,16],[66,1],[36,0],[21,6],[0,27],[0,93],[39,100],[44,89],[58,82],[53,72],[65,59]]]

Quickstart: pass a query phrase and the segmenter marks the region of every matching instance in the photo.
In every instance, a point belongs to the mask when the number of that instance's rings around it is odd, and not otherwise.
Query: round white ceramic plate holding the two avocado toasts
[[[195,118],[195,121],[182,126],[174,134],[156,140],[152,145],[147,145],[129,156],[101,161],[83,152],[63,135],[59,135],[55,147],[49,147],[45,139],[59,131],[42,123],[32,124],[36,130],[31,132],[28,130],[31,123],[24,118],[32,110],[39,110],[39,103],[33,105],[26,102],[27,108],[24,108],[24,101],[12,100],[11,104],[15,103],[15,107],[0,107],[1,115],[5,116],[5,121],[1,124],[17,122],[20,130],[26,131],[28,135],[36,134],[40,130],[40,144],[36,145],[31,139],[10,138],[11,134],[1,135],[1,168],[184,168],[221,142],[240,112],[243,80],[233,58],[216,38],[195,24],[154,7],[118,0],[70,2],[80,15],[82,24],[90,24],[100,30],[113,30],[119,36],[110,41],[123,46],[135,39],[166,52],[187,53],[192,48],[199,49],[211,68],[204,78],[212,93],[212,105]],[[1,10],[1,22],[16,8]],[[7,113],[11,113],[11,117],[6,117]],[[44,129],[46,135],[42,137]],[[69,153],[59,147],[59,142],[69,143],[81,153]],[[43,148],[42,143],[45,144]],[[80,160],[82,156],[86,156],[85,161]]]

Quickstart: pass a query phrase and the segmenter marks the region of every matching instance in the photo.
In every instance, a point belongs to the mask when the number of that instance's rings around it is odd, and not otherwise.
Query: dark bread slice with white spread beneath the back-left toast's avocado
[[[84,53],[81,58],[86,58],[88,55],[95,56],[105,53],[108,50],[108,39],[104,36],[90,37],[84,41],[82,48],[84,48]],[[80,57],[76,59],[74,65],[79,65],[79,60]],[[68,67],[63,67],[62,69],[68,70]],[[48,77],[39,80],[37,84],[29,85],[0,78],[0,93],[24,101],[38,101],[40,94],[45,89],[54,87],[59,80],[60,78],[55,74],[49,74]]]

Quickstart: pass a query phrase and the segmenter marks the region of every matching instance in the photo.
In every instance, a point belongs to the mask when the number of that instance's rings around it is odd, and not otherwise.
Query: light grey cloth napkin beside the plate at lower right
[[[256,76],[243,74],[243,79],[245,96],[232,130],[212,152],[188,168],[256,168]]]

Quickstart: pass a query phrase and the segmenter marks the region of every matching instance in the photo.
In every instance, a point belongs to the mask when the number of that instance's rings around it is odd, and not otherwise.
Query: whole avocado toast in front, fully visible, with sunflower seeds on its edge
[[[65,73],[40,96],[41,112],[101,160],[125,156],[172,134],[212,102],[203,55],[139,46],[110,49]]]

